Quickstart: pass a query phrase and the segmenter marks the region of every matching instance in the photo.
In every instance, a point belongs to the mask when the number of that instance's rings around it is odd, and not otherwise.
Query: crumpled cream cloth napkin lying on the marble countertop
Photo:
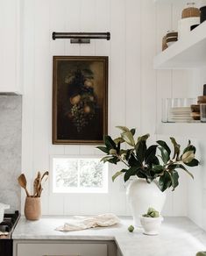
[[[114,214],[101,214],[92,217],[75,216],[69,223],[57,227],[56,231],[81,231],[96,227],[108,227],[120,223],[120,219]]]

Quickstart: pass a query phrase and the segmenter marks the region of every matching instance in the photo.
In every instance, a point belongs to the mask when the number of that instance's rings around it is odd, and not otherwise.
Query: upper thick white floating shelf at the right
[[[155,69],[188,69],[206,66],[206,22],[190,32],[187,38],[177,41],[157,55],[153,64]]]

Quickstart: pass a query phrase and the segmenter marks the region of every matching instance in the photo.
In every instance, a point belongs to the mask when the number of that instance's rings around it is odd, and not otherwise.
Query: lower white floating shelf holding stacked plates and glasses
[[[156,134],[182,137],[185,139],[201,139],[205,137],[205,124],[203,123],[161,123]]]

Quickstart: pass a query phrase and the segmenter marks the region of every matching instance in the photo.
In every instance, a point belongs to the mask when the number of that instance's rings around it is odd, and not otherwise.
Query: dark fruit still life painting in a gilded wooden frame
[[[101,144],[108,127],[108,57],[53,56],[53,144]]]

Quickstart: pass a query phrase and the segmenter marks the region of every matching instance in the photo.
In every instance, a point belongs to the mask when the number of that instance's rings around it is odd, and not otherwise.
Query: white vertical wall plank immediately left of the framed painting
[[[51,91],[51,59],[50,59],[50,17],[49,0],[42,2],[36,0],[34,11],[38,13],[35,17],[35,86],[34,86],[34,133],[33,146],[36,149],[33,155],[33,178],[38,170],[47,170],[49,165],[48,145],[51,139],[47,134],[50,129],[48,122],[51,114],[51,97],[48,97],[48,91]],[[44,56],[44,58],[42,58]],[[39,149],[40,142],[40,150]],[[48,212],[48,190],[44,190],[42,196],[42,213]]]

